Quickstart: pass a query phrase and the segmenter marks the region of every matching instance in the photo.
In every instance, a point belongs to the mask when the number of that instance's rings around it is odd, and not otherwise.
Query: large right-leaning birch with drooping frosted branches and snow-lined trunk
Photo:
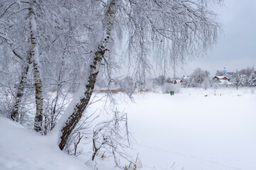
[[[208,1],[102,1],[102,10],[105,11],[100,23],[102,30],[95,38],[100,42],[95,40],[96,50],[92,50],[85,87],[75,96],[58,123],[60,149],[64,148],[70,132],[85,111],[100,65],[110,60],[112,40],[118,33],[128,34],[129,57],[134,60],[137,75],[143,80],[146,69],[150,67],[150,49],[160,47],[163,40],[166,41],[166,61],[175,64],[185,61],[188,55],[206,52],[216,42],[220,25],[215,22],[215,13],[208,10],[207,4]]]

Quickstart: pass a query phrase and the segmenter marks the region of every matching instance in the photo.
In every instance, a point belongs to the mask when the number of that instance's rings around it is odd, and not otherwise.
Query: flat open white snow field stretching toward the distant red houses
[[[130,154],[139,154],[142,169],[255,170],[255,94],[256,89],[195,88],[119,102],[137,140]]]

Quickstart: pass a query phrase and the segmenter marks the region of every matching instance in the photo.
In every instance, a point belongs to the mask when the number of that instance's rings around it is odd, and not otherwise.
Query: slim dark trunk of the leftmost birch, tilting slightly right
[[[16,98],[14,101],[14,106],[11,108],[11,119],[14,121],[18,121],[18,108],[21,105],[21,98],[24,94],[25,82],[28,76],[28,68],[29,68],[29,56],[26,57],[26,60],[23,60],[21,79],[18,83],[18,88],[16,92]]]

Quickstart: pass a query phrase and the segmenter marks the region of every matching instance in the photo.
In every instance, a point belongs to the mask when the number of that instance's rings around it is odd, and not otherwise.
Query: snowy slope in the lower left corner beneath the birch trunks
[[[85,164],[58,149],[50,137],[38,135],[0,117],[1,170],[86,170]]]

